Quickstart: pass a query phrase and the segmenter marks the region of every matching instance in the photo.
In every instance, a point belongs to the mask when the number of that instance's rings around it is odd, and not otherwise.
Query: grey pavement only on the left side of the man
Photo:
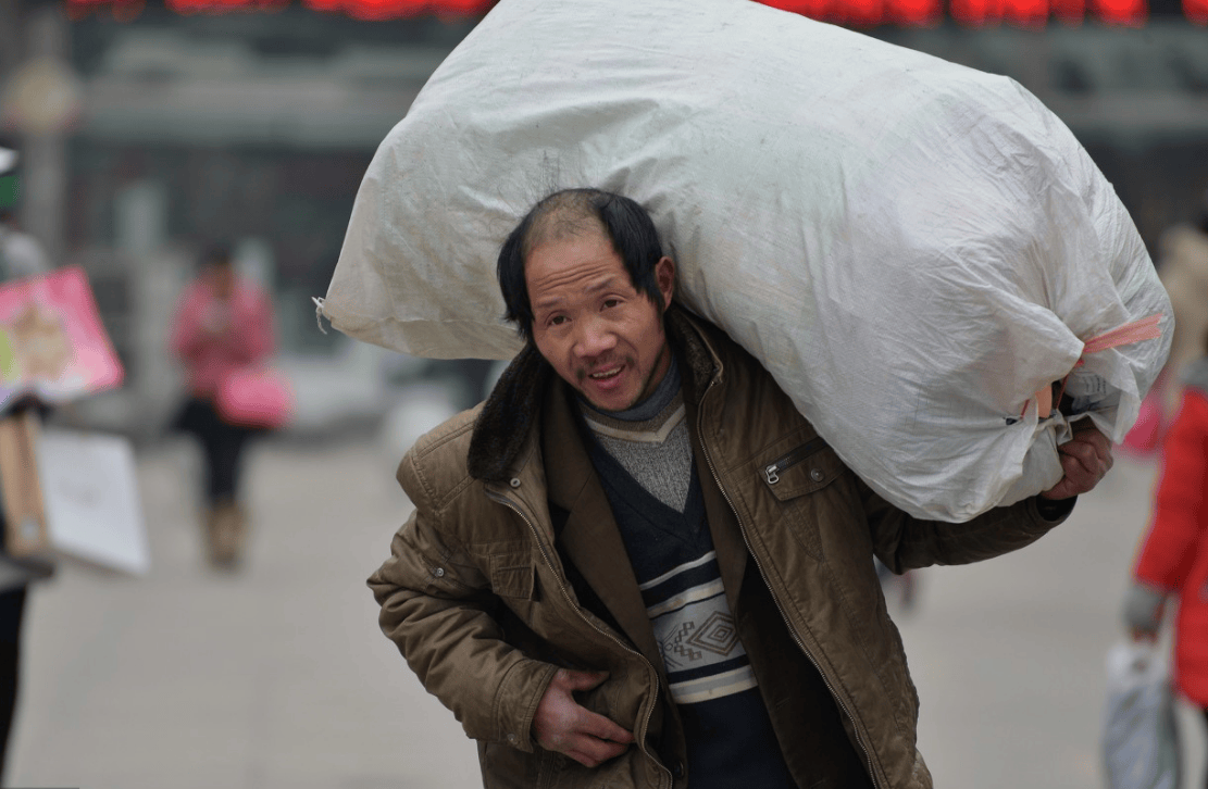
[[[481,785],[475,752],[377,630],[365,579],[410,505],[371,445],[261,445],[242,573],[202,561],[196,457],[144,454],[152,572],[63,565],[28,610],[5,785]]]

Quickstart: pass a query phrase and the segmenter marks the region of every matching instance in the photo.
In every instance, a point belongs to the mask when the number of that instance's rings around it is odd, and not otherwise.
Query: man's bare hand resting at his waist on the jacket
[[[538,744],[565,754],[585,767],[597,767],[625,753],[633,735],[575,701],[575,691],[591,690],[605,679],[606,672],[559,668],[533,717]]]

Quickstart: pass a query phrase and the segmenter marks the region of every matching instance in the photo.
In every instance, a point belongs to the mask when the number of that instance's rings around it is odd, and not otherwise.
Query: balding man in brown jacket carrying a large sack
[[[548,196],[496,271],[523,350],[403,458],[416,511],[368,580],[484,785],[930,787],[873,557],[901,573],[1029,545],[1110,442],[1084,420],[1040,495],[916,518],[676,303],[634,201]]]

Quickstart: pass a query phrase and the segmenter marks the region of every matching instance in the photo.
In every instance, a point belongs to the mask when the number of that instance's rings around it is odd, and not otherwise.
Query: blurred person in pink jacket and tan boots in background
[[[172,350],[188,378],[188,398],[174,425],[196,435],[205,454],[205,533],[216,565],[233,564],[245,541],[240,462],[255,433],[223,414],[222,387],[233,373],[263,362],[274,344],[268,296],[236,273],[228,248],[213,246],[176,309]]]

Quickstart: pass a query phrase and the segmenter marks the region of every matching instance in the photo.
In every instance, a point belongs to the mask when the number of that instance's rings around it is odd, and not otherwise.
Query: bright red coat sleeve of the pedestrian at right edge
[[[1178,591],[1195,562],[1201,507],[1208,485],[1208,399],[1197,391],[1183,406],[1162,447],[1162,476],[1154,517],[1138,551],[1133,576],[1166,592]]]

